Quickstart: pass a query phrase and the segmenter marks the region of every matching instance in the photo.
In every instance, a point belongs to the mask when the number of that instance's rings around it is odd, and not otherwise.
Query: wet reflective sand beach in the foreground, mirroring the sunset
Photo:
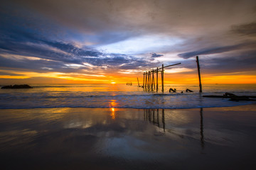
[[[0,109],[4,169],[255,169],[256,105]]]

